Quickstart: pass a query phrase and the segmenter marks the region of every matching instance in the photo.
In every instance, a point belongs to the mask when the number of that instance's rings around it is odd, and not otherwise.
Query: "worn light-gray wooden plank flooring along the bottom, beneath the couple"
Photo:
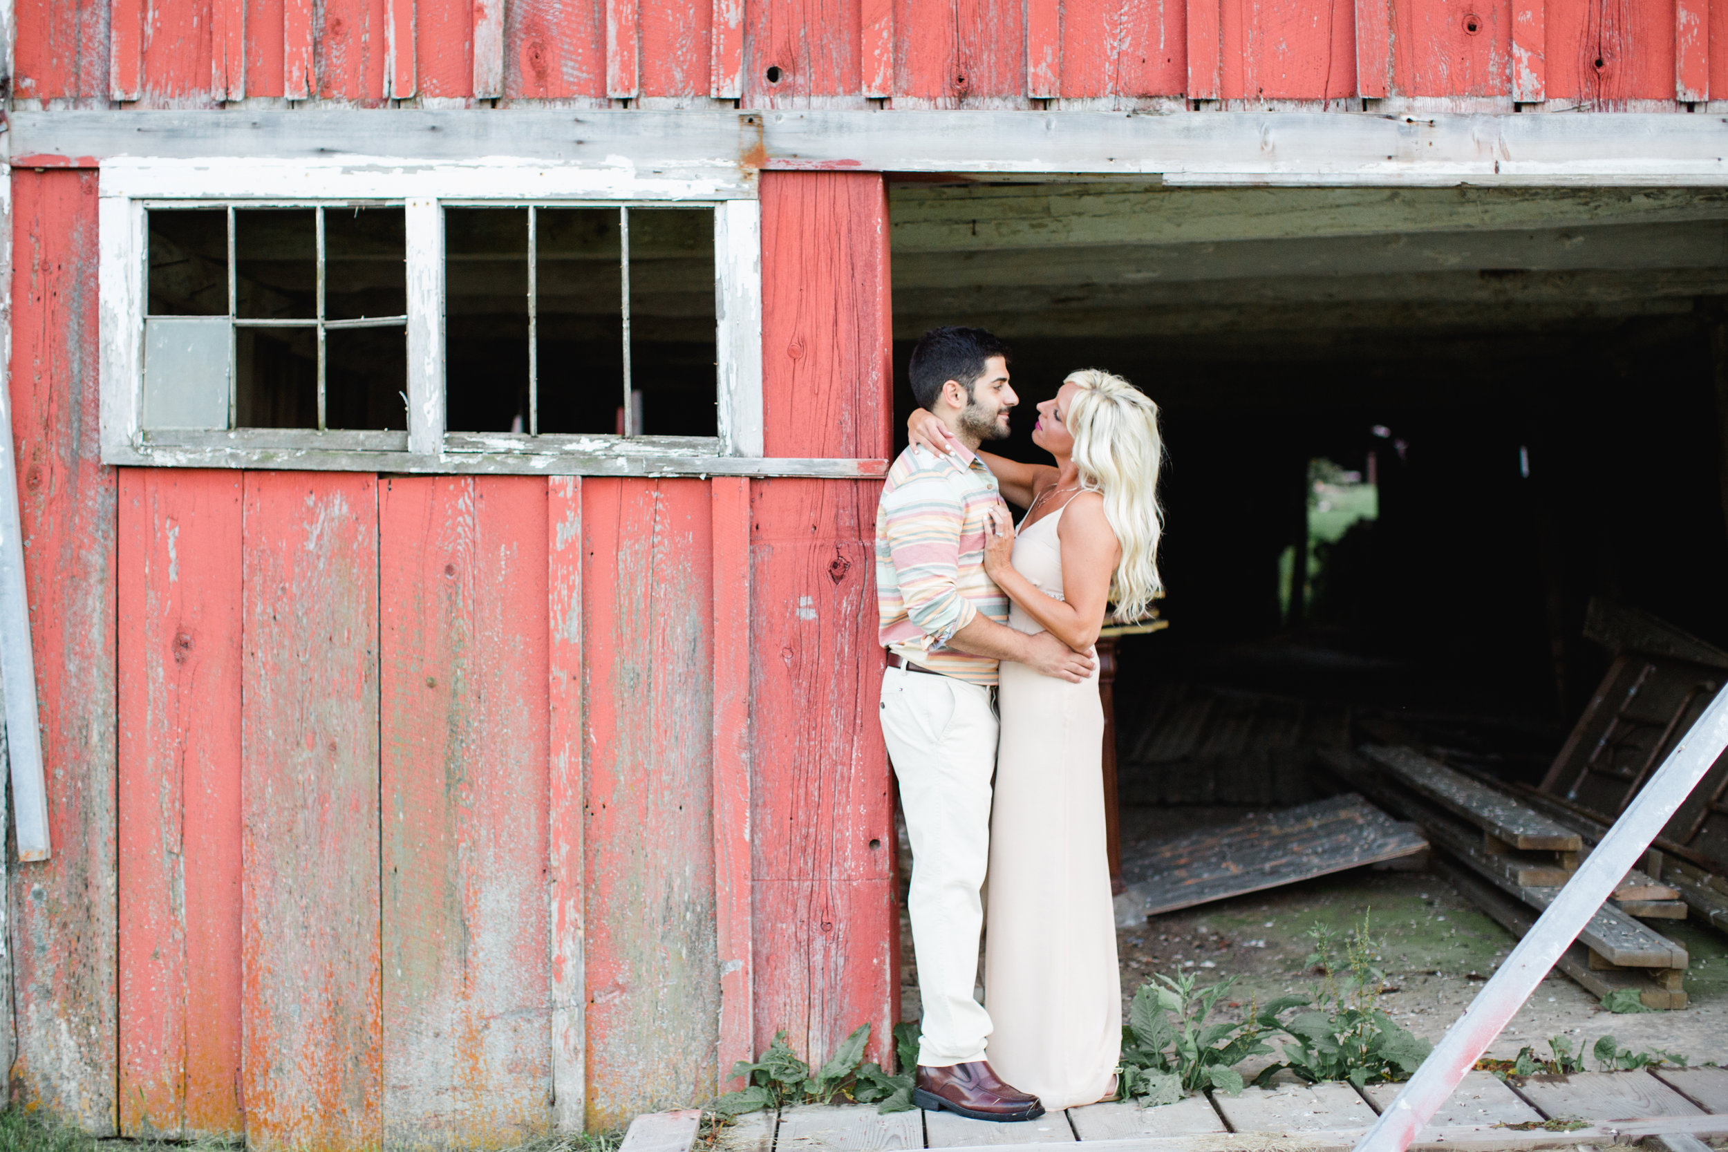
[[[778,1119],[766,1112],[740,1117],[721,1135],[715,1152],[912,1152],[1135,1138],[1161,1140],[1161,1147],[1170,1152],[1170,1136],[1196,1136],[1201,1143],[1225,1133],[1336,1136],[1370,1126],[1379,1109],[1389,1105],[1401,1086],[1369,1085],[1358,1093],[1344,1083],[1284,1085],[1244,1088],[1237,1097],[1194,1095],[1159,1107],[1106,1102],[1023,1124],[971,1121],[952,1112],[883,1116],[874,1105],[807,1104],[786,1109]],[[1610,1124],[1623,1119],[1706,1114],[1728,1114],[1728,1069],[1531,1076],[1515,1088],[1490,1073],[1471,1073],[1422,1131],[1431,1135],[1443,1128],[1483,1130],[1545,1119]],[[651,1117],[638,1117],[636,1124],[648,1119]],[[660,1152],[660,1140],[643,1140],[650,1131],[638,1136],[636,1124],[631,1126],[636,1143],[627,1145],[626,1152],[638,1152],[638,1143],[641,1152]],[[688,1126],[689,1121],[683,1124]]]

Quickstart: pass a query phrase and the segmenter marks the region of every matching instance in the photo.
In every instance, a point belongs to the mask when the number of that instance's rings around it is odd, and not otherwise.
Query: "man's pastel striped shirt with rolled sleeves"
[[[980,611],[1007,623],[1007,596],[983,572],[995,477],[961,446],[909,447],[876,504],[876,606],[883,648],[968,684],[995,684],[995,660],[945,648]]]

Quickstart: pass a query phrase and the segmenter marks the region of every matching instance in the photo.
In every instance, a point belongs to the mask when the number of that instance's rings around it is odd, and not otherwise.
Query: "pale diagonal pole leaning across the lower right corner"
[[[1529,993],[1536,991],[1536,984],[1572,945],[1602,902],[1614,893],[1614,886],[1638,864],[1643,850],[1699,786],[1725,748],[1728,748],[1728,687],[1716,694],[1685,739],[1674,744],[1662,769],[1614,822],[1524,940],[1512,948],[1500,971],[1483,984],[1471,1007],[1434,1047],[1398,1098],[1381,1112],[1355,1152],[1405,1152],[1410,1147],[1417,1130],[1446,1102],[1507,1021],[1524,1007]]]

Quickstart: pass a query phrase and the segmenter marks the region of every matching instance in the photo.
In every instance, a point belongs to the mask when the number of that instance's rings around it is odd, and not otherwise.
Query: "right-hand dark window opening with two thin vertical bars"
[[[451,432],[717,435],[714,211],[448,207]]]

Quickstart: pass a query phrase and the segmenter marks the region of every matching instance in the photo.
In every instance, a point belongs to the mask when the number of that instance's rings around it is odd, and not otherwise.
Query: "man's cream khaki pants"
[[[990,689],[949,675],[886,668],[881,734],[900,781],[900,810],[912,839],[912,948],[928,1067],[983,1059],[990,1016],[973,998],[990,864],[990,775],[995,705]]]

